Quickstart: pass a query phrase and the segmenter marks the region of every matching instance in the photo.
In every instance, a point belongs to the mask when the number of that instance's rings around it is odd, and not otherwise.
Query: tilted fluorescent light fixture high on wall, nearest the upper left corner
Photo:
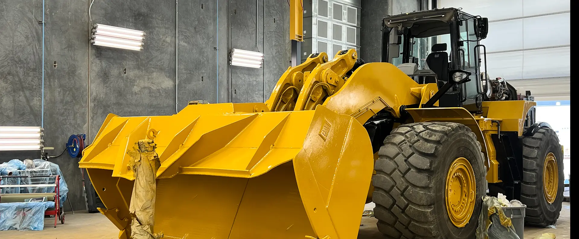
[[[112,25],[94,24],[91,43],[128,50],[142,50],[145,32]]]

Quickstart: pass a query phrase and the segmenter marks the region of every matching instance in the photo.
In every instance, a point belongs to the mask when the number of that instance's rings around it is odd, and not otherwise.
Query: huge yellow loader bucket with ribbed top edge
[[[356,238],[373,170],[365,128],[321,105],[256,113],[236,105],[107,117],[79,165],[119,238],[131,237],[134,217],[127,152],[142,139],[160,161],[148,196],[157,238]]]

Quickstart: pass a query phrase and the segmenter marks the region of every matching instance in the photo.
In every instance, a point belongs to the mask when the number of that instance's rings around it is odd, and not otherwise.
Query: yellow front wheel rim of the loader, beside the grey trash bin
[[[471,164],[459,157],[450,164],[446,175],[446,211],[452,224],[464,227],[472,216],[477,183]]]

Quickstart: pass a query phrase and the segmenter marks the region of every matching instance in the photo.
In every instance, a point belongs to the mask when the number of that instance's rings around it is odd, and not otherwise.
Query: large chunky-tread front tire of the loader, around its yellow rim
[[[481,144],[459,123],[412,123],[394,128],[376,160],[374,216],[387,238],[475,238],[486,168]],[[465,157],[476,183],[475,205],[464,227],[456,227],[446,211],[446,176],[450,164]]]

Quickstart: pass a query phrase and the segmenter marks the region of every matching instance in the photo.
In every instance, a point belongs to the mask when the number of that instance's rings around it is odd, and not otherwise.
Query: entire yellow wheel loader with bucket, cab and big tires
[[[351,239],[370,201],[386,238],[474,238],[487,193],[551,225],[559,140],[530,93],[481,71],[487,24],[454,8],[385,17],[382,62],[316,53],[265,104],[110,114],[79,165],[119,238]]]

